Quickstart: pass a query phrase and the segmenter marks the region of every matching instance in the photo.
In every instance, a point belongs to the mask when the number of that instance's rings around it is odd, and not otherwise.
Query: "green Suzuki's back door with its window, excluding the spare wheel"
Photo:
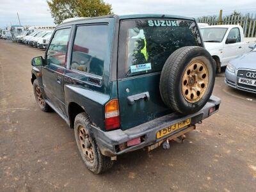
[[[202,46],[194,21],[122,20],[118,49],[118,99],[121,129],[172,113],[159,93],[161,70],[180,47]]]

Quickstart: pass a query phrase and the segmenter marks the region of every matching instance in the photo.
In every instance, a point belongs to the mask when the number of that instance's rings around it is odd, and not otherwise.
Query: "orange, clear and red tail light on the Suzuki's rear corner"
[[[105,128],[107,131],[120,127],[118,99],[110,100],[105,106]]]

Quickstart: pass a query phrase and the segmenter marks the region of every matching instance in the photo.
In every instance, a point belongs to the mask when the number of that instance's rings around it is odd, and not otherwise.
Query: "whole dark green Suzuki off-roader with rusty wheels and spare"
[[[63,22],[33,58],[31,82],[43,111],[74,129],[93,173],[116,156],[183,140],[216,113],[216,63],[195,19],[108,15]]]

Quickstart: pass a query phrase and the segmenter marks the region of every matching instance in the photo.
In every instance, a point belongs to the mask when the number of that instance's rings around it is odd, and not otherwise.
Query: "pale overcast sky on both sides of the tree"
[[[72,0],[70,0],[72,1]],[[131,13],[166,13],[200,17],[224,14],[238,10],[242,13],[256,13],[255,0],[105,0],[112,4],[113,12],[124,15]],[[53,19],[46,0],[0,0],[0,28],[19,24],[19,12],[22,25],[52,25]]]

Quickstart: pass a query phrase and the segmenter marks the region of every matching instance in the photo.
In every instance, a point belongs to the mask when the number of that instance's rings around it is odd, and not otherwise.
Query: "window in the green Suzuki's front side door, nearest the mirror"
[[[60,65],[66,67],[66,56],[70,28],[60,29],[54,33],[47,51],[47,65]]]

